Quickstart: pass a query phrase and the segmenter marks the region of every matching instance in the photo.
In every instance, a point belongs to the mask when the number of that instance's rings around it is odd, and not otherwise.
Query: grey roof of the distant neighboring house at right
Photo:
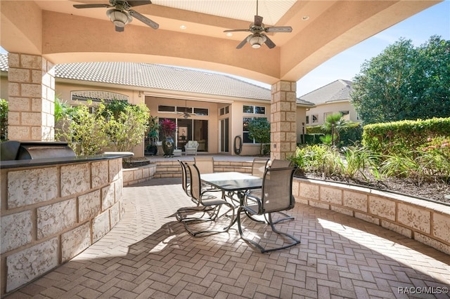
[[[316,105],[337,102],[340,100],[349,100],[350,93],[352,92],[352,84],[352,81],[339,79],[326,86],[317,88],[315,91],[311,91],[306,95],[300,96],[300,99],[307,102],[313,102]]]

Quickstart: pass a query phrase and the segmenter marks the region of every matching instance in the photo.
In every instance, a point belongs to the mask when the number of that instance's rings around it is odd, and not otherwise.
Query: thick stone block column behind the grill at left
[[[8,139],[53,141],[55,72],[39,55],[8,54]]]

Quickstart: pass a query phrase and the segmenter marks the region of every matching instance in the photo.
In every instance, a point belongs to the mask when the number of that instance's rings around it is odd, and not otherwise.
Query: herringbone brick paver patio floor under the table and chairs
[[[191,206],[180,181],[125,187],[113,230],[9,298],[449,298],[449,255],[333,211],[297,204],[278,226],[302,244],[273,253],[236,225],[191,237],[170,216]]]

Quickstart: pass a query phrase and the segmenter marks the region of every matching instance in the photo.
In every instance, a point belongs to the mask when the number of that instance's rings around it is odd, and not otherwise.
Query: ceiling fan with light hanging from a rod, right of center
[[[224,32],[252,32],[249,36],[245,37],[243,41],[238,44],[236,48],[242,48],[247,42],[252,45],[252,48],[260,48],[262,44],[266,44],[269,48],[274,48],[275,44],[269,36],[266,36],[264,32],[292,32],[293,28],[290,26],[278,26],[278,27],[264,27],[262,23],[262,17],[258,15],[258,0],[256,0],[256,15],[255,22],[250,24],[249,29],[231,29]]]

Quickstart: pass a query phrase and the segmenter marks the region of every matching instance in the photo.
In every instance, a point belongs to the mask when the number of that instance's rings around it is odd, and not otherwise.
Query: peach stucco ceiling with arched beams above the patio
[[[256,0],[153,0],[133,9],[158,22],[139,20],[115,32],[107,8],[76,9],[94,1],[0,1],[1,46],[14,53],[43,55],[53,63],[133,61],[197,67],[274,84],[297,81],[322,62],[409,18],[440,0],[259,0],[276,47],[236,46],[256,14]],[[305,20],[307,19],[307,20]],[[184,26],[184,29],[181,26]]]

